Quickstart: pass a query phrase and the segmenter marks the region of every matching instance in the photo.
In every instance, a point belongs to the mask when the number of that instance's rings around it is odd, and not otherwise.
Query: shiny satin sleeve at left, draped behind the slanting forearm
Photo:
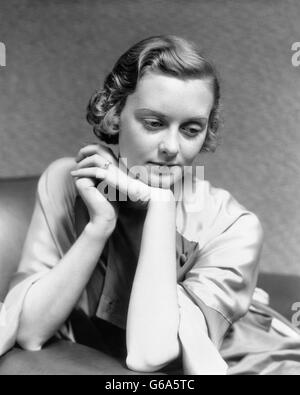
[[[0,311],[0,355],[14,346],[24,299],[30,287],[46,275],[74,240],[70,197],[75,190],[66,175],[72,159],[53,162],[39,179],[35,207],[21,262]]]

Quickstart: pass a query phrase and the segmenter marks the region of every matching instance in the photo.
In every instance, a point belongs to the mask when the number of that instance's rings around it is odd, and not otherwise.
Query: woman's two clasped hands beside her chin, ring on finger
[[[110,165],[106,168],[107,161]],[[76,168],[71,175],[75,178],[78,192],[88,208],[91,222],[104,221],[112,229],[116,224],[118,205],[101,193],[99,186],[103,187],[103,183],[118,189],[123,196],[145,207],[152,199],[168,201],[174,197],[170,189],[149,186],[133,178],[130,173],[127,174],[122,161],[118,163],[112,151],[102,145],[92,144],[82,148],[76,162]]]

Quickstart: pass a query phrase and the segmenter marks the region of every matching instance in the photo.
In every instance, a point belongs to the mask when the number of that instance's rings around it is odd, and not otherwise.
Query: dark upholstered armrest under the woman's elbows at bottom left
[[[136,375],[122,362],[97,350],[59,341],[42,351],[14,348],[0,358],[0,375]],[[144,373],[147,375],[147,373]],[[155,373],[161,375],[163,373]]]

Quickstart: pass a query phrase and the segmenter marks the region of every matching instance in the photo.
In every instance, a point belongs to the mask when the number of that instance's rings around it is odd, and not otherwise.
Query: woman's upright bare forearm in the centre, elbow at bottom
[[[152,370],[179,354],[176,202],[150,201],[127,318],[127,365]]]

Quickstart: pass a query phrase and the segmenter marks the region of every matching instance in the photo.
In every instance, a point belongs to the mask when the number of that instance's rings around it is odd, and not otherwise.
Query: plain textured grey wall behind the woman
[[[262,268],[300,274],[300,41],[297,0],[0,0],[0,177],[40,174],[94,141],[91,93],[132,44],[192,39],[223,85],[223,141],[205,178],[253,210]]]

